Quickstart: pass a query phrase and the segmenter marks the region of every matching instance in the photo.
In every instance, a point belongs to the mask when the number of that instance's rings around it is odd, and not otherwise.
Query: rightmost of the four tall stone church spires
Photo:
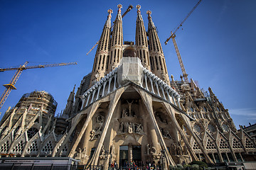
[[[167,84],[170,85],[169,75],[166,69],[166,62],[164,59],[164,52],[161,47],[159,36],[156,32],[156,26],[151,18],[151,11],[146,11],[149,19],[149,60],[151,71],[156,74],[157,77],[163,79]]]

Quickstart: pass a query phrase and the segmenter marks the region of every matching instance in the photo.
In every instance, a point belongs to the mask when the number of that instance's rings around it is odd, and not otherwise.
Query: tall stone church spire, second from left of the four
[[[114,21],[114,28],[112,31],[112,39],[110,43],[110,67],[107,72],[112,71],[117,65],[119,61],[122,59],[122,45],[123,45],[123,30],[122,30],[122,15],[121,8],[122,5],[117,5],[117,18]]]

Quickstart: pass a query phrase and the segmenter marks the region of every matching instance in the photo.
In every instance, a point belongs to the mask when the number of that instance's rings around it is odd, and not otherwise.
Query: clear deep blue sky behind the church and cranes
[[[129,4],[142,6],[147,30],[146,11],[159,31],[169,75],[179,79],[174,45],[164,41],[195,6],[197,0],[139,1],[0,1],[0,68],[28,65],[78,62],[76,66],[25,70],[0,109],[1,115],[19,98],[34,90],[52,94],[58,102],[57,113],[65,108],[73,86],[77,87],[92,70],[95,50],[86,53],[100,39],[112,8],[122,13]],[[235,125],[256,123],[256,1],[203,0],[183,29],[176,33],[188,78],[203,89],[210,86],[229,109]],[[136,8],[123,18],[124,40],[135,41]],[[0,84],[7,84],[14,71],[1,72]],[[0,87],[0,93],[4,86]]]

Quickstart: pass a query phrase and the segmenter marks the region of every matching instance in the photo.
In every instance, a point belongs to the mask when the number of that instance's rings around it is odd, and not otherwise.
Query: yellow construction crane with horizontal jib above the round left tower
[[[10,67],[6,69],[1,69],[0,72],[5,72],[5,71],[11,71],[11,70],[17,70],[16,73],[14,74],[14,77],[11,79],[9,84],[4,84],[3,86],[6,87],[4,93],[0,97],[0,109],[4,105],[4,102],[6,101],[6,98],[9,96],[11,93],[11,90],[15,89],[16,87],[14,86],[18,80],[18,77],[21,76],[21,72],[25,69],[37,69],[37,68],[46,68],[46,67],[58,67],[58,66],[68,66],[68,65],[75,65],[77,64],[76,62],[68,62],[68,63],[57,63],[57,64],[44,64],[44,65],[36,65],[36,66],[26,66],[28,62],[25,62],[25,64],[21,65],[20,67]]]

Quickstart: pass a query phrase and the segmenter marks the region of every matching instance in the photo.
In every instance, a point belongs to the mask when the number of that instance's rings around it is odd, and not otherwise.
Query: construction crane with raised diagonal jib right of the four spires
[[[178,51],[178,46],[177,46],[177,43],[176,43],[176,40],[175,40],[175,33],[177,32],[177,30],[179,28],[182,27],[182,24],[187,20],[187,18],[191,15],[191,13],[193,13],[193,11],[196,9],[196,7],[201,3],[202,0],[199,0],[198,3],[196,4],[196,6],[194,6],[192,8],[192,10],[188,13],[188,15],[186,16],[186,18],[183,19],[183,21],[178,25],[178,27],[174,30],[174,32],[171,31],[171,36],[169,38],[167,38],[167,40],[164,42],[165,45],[167,45],[167,43],[169,42],[169,40],[171,39],[173,42],[174,42],[174,47],[175,47],[175,50],[176,50],[176,53],[177,53],[177,56],[178,56],[178,62],[181,66],[181,71],[182,71],[182,74],[183,74],[183,78],[186,82],[188,82],[188,74],[186,74],[186,70],[185,70],[185,67],[183,65],[183,62],[182,62],[182,59],[181,59],[181,54],[180,52]]]

